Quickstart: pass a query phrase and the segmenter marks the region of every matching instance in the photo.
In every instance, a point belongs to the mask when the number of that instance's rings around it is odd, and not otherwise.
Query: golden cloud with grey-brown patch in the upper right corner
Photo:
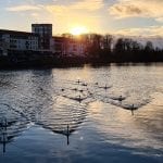
[[[109,8],[111,15],[116,18],[125,17],[163,17],[163,0],[118,0]]]

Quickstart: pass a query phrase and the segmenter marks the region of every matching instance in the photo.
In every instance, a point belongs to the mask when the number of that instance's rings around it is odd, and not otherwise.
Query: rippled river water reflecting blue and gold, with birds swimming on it
[[[163,66],[0,72],[0,162],[163,162]]]

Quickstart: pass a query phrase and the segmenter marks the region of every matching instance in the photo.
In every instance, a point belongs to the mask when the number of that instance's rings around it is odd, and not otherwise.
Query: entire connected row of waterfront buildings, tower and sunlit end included
[[[28,58],[29,54],[85,58],[86,38],[64,34],[52,37],[52,24],[32,24],[33,33],[0,29],[0,55]]]

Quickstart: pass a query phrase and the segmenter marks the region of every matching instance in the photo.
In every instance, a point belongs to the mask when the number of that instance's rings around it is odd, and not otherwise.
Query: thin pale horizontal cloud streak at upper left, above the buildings
[[[5,10],[10,12],[39,11],[40,9],[40,5],[17,5],[5,8]]]

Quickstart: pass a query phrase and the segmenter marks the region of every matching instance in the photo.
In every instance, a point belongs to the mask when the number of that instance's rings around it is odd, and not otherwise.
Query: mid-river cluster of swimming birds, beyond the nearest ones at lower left
[[[82,80],[74,82],[75,87],[63,87],[58,89],[55,92],[58,96],[62,96],[70,100],[78,101],[79,103],[87,101],[87,103],[99,100],[104,103],[110,103],[112,105],[116,105],[118,108],[131,111],[134,115],[134,111],[138,110],[139,108],[148,104],[150,100],[143,100],[140,103],[131,103],[127,104],[123,101],[127,99],[127,96],[117,95],[112,96],[110,95],[110,89],[113,87],[112,85],[100,85],[99,83],[85,83]],[[71,91],[71,92],[70,92]],[[74,91],[74,92],[72,92]],[[73,96],[72,96],[73,95]],[[75,96],[74,96],[75,95]],[[108,96],[109,95],[109,96]]]

